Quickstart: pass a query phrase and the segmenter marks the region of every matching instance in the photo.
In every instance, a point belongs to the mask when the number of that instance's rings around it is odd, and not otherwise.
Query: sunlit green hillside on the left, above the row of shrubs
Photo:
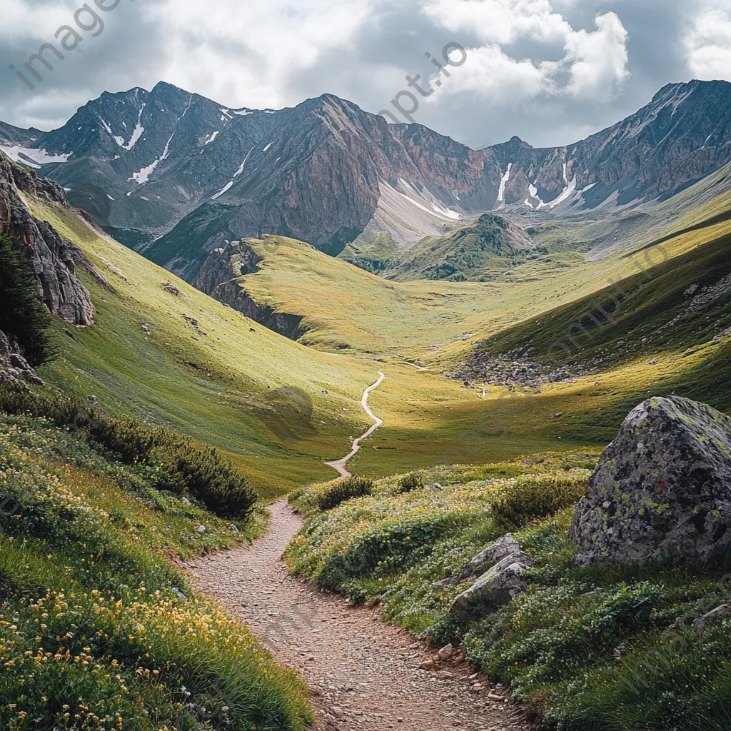
[[[105,287],[78,270],[96,325],[75,329],[72,339],[54,323],[61,357],[41,369],[48,382],[83,398],[96,395],[110,414],[165,425],[229,452],[264,496],[330,475],[323,461],[346,453],[349,434],[365,431],[359,402],[377,368],[272,333],[96,235],[69,211],[27,202],[107,281]],[[164,289],[168,281],[179,296]]]

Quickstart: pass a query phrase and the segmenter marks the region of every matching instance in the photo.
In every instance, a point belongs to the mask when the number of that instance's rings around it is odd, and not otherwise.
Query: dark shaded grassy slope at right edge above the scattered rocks
[[[690,398],[731,409],[731,338],[713,339],[731,327],[730,252],[731,235],[721,236],[538,322],[504,330],[482,349],[521,352],[548,364],[556,356],[569,364],[592,363],[599,371],[694,355],[677,387]]]

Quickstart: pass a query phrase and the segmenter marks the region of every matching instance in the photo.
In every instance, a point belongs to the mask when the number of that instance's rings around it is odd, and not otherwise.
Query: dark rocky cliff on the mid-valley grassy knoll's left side
[[[243,241],[227,243],[211,252],[200,270],[195,286],[275,333],[298,340],[306,333],[301,325],[302,317],[258,305],[244,289],[240,277],[254,273],[260,261],[261,258],[249,244]]]

